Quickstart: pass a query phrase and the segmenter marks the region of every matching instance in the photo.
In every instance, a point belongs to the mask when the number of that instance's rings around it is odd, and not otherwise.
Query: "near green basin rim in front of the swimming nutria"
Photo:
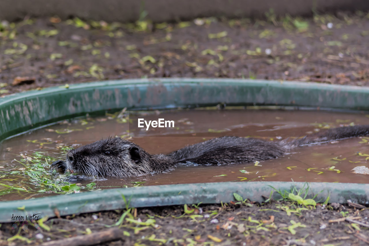
[[[315,200],[323,203],[330,196],[330,202],[346,203],[350,199],[354,203],[368,204],[369,189],[366,184],[354,183],[304,183],[304,182],[219,182],[196,183],[180,185],[158,185],[107,190],[87,191],[77,194],[65,194],[52,197],[41,197],[30,200],[0,202],[0,221],[11,221],[14,214],[23,211],[32,214],[41,214],[41,217],[55,216],[55,209],[60,215],[79,214],[125,208],[125,199],[130,201],[129,207],[152,207],[163,205],[228,203],[234,201],[233,193],[244,199],[262,202],[262,196],[270,196],[275,189],[291,191],[292,188],[306,189],[308,197],[317,194]],[[276,192],[272,196],[280,198]],[[22,208],[23,210],[20,210]]]

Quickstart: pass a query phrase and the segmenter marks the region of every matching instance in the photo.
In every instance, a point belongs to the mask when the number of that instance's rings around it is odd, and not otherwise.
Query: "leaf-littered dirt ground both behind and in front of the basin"
[[[141,77],[260,78],[369,86],[366,13],[277,18],[270,12],[265,20],[203,18],[170,24],[62,21],[58,17],[0,23],[0,96]],[[100,245],[369,244],[367,208],[331,204],[301,210],[301,205],[287,202],[252,207],[232,203],[189,206],[186,211],[183,206],[133,209],[121,224],[122,239]],[[115,224],[123,213],[52,218],[45,222],[49,231],[29,225],[25,232],[3,223],[0,245],[24,245],[27,240],[38,245],[50,239],[94,235],[108,230],[104,225]],[[82,245],[88,241],[80,240]]]

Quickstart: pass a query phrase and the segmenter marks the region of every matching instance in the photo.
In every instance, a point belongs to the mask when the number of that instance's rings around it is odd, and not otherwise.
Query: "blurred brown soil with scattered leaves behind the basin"
[[[227,77],[369,85],[368,15],[0,25],[0,93],[96,80]]]

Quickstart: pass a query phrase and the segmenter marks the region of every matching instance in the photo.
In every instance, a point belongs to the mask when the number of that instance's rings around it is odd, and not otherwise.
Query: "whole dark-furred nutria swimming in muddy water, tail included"
[[[368,134],[369,125],[363,125],[329,129],[324,133],[292,141],[268,142],[255,138],[218,137],[167,155],[151,155],[137,144],[115,137],[69,150],[66,161],[55,161],[52,167],[97,177],[133,177],[168,171],[181,163],[223,165],[263,161],[280,157],[287,150],[299,146]]]

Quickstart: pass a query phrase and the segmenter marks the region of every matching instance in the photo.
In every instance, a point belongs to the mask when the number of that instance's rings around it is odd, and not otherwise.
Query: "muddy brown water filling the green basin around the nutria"
[[[112,117],[76,119],[60,122],[53,126],[5,140],[0,145],[0,171],[22,168],[14,159],[21,159],[20,153],[31,155],[44,151],[51,157],[60,157],[56,146],[60,143],[74,147],[91,143],[109,136],[124,136],[140,145],[151,154],[169,153],[187,144],[218,136],[260,137],[278,141],[286,137],[301,137],[327,127],[348,124],[369,124],[368,113],[343,113],[303,110],[182,110],[151,113],[145,120],[164,118],[173,120],[175,128],[138,129],[137,116],[131,123]],[[70,133],[64,133],[68,132]],[[130,132],[128,134],[128,131]],[[37,141],[35,141],[37,140]],[[291,181],[296,182],[343,182],[368,183],[368,176],[352,173],[356,166],[368,166],[369,137],[355,137],[333,143],[299,147],[283,157],[254,163],[225,166],[177,166],[175,170],[146,175],[137,178],[110,178],[97,181],[98,187],[126,187],[133,182],[141,185],[165,185],[225,181]],[[42,144],[48,142],[49,144]],[[56,142],[56,143],[55,143]],[[51,162],[50,162],[51,163]],[[6,175],[1,183],[12,185],[12,178]],[[27,177],[26,177],[27,178]],[[86,181],[89,183],[91,181]],[[136,183],[137,184],[137,183]],[[21,197],[20,197],[21,195]],[[38,194],[37,196],[42,196]],[[20,199],[19,193],[7,194],[0,200]]]

